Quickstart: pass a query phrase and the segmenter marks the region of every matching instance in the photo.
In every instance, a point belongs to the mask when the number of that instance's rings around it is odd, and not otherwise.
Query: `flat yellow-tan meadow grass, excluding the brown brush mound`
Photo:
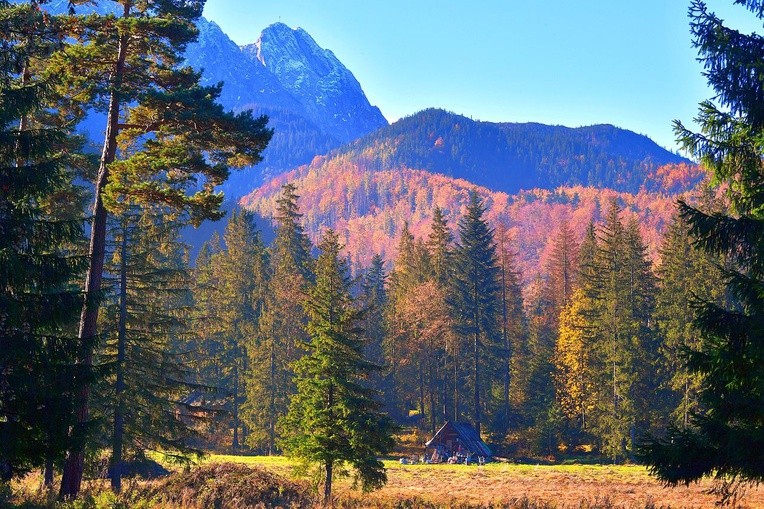
[[[237,461],[259,465],[286,476],[289,460],[282,457],[214,456],[211,461]],[[438,507],[516,507],[531,501],[536,506],[565,507],[714,507],[707,491],[710,481],[689,487],[664,488],[644,467],[627,465],[516,465],[485,466],[401,465],[385,462],[387,485],[374,493],[350,489],[350,481],[338,483],[347,505],[407,507],[417,499]],[[749,489],[740,507],[764,509],[764,487]]]

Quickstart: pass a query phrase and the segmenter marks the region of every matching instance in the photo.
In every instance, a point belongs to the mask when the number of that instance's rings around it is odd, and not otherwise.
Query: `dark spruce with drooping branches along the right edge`
[[[759,21],[764,18],[761,1],[736,3]],[[718,105],[700,105],[700,133],[679,122],[676,133],[683,147],[713,171],[715,182],[728,185],[731,212],[704,211],[684,202],[680,212],[698,247],[728,259],[726,290],[736,303],[703,299],[695,322],[701,345],[689,357],[691,371],[702,379],[702,410],[688,428],[648,442],[644,453],[652,472],[665,482],[714,476],[723,481],[723,495],[734,495],[736,482],[764,480],[764,50],[760,35],[724,26],[702,1],[692,3],[690,18]]]

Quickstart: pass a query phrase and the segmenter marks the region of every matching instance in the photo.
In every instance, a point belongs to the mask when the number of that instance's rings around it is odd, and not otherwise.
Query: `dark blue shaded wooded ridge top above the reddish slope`
[[[646,136],[610,125],[480,122],[440,109],[403,118],[332,157],[363,160],[375,170],[442,173],[507,193],[561,185],[658,190],[648,179],[652,172],[689,162]]]

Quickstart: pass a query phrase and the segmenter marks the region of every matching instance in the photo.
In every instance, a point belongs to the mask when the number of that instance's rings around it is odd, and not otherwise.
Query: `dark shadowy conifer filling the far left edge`
[[[61,127],[56,78],[40,71],[59,22],[37,2],[0,2],[0,479],[44,465],[46,484],[82,439],[68,429],[83,231],[56,204],[76,197],[81,142]]]

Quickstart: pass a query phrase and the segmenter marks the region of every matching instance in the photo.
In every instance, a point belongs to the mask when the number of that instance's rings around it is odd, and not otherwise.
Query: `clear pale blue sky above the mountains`
[[[723,19],[761,31],[732,0]],[[711,96],[690,43],[689,0],[208,0],[238,44],[282,21],[353,72],[393,122],[427,107],[475,119],[614,124],[674,150]]]

